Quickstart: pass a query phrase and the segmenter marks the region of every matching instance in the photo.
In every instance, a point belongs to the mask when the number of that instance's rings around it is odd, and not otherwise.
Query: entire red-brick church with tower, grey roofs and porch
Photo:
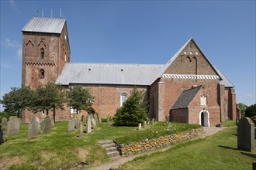
[[[170,114],[170,121],[215,126],[239,117],[234,85],[194,39],[165,64],[70,63],[70,53],[65,19],[31,19],[22,29],[22,87],[81,85],[95,97],[91,111],[101,117],[114,115],[133,87],[147,93],[149,117],[157,121]],[[56,121],[68,121],[73,112],[67,106],[57,110]],[[32,116],[23,111],[22,121]]]

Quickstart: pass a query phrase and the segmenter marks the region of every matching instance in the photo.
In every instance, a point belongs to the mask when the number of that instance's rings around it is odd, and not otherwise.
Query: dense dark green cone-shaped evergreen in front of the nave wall
[[[131,96],[123,103],[123,107],[116,110],[113,117],[115,125],[137,126],[147,121],[147,102],[144,91],[133,88]]]

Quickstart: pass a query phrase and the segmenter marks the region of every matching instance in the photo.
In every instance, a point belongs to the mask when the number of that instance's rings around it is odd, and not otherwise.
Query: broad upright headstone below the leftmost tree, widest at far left
[[[9,136],[19,134],[20,124],[19,119],[16,116],[12,116],[9,118],[7,122],[6,134]]]

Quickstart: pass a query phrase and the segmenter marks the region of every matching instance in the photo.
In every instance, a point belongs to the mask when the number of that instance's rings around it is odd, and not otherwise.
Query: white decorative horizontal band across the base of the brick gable
[[[162,78],[168,79],[220,79],[216,75],[195,75],[195,74],[163,74]]]

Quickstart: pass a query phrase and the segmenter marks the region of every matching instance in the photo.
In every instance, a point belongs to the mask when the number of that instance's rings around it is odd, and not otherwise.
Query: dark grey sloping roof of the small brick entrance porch
[[[180,109],[180,108],[189,107],[190,102],[195,97],[195,94],[199,92],[201,87],[202,86],[193,87],[192,89],[183,91],[179,95],[178,99],[175,101],[175,104],[173,104],[171,109]]]

